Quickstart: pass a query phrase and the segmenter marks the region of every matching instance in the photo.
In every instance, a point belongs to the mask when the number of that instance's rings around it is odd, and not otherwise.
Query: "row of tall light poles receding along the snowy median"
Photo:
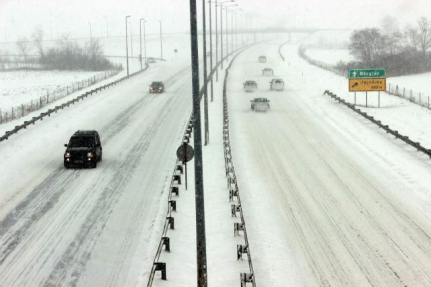
[[[204,144],[209,143],[208,132],[208,77],[206,67],[206,14],[205,14],[205,1],[202,0],[202,33],[203,33],[203,108],[204,108]],[[212,71],[212,19],[211,19],[211,6],[215,4],[215,62],[219,63],[219,29],[218,29],[218,16],[217,8],[220,7],[220,32],[221,32],[221,68],[223,69],[223,9],[226,10],[226,55],[229,55],[228,44],[228,12],[231,12],[231,55],[234,52],[234,12],[236,23],[236,49],[238,49],[238,20],[237,12],[243,9],[237,7],[238,4],[232,4],[235,0],[208,0],[209,3],[209,56],[210,68]],[[230,5],[226,5],[231,3]],[[234,8],[236,7],[236,8]],[[231,9],[230,9],[231,8]],[[197,41],[197,12],[196,0],[190,0],[190,39],[191,39],[191,71],[192,71],[192,94],[193,94],[193,127],[194,127],[194,178],[195,178],[195,205],[196,205],[196,262],[197,262],[197,286],[207,286],[207,273],[206,273],[206,238],[205,238],[205,210],[203,203],[203,170],[202,170],[202,138],[200,126],[200,96],[199,96],[199,62],[198,62],[198,41]],[[241,21],[242,24],[242,21]],[[244,27],[242,27],[244,30]],[[244,32],[244,31],[243,31]],[[256,37],[255,37],[256,41]],[[242,42],[243,44],[244,42]],[[216,81],[219,80],[218,68],[215,69]],[[211,82],[211,101],[213,101],[213,78]]]

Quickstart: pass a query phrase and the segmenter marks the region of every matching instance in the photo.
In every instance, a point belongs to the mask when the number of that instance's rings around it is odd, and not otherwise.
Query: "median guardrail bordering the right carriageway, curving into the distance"
[[[239,54],[239,53],[238,53]],[[224,150],[225,150],[225,168],[226,168],[226,176],[228,178],[228,188],[229,188],[229,198],[230,201],[234,201],[234,198],[237,200],[237,204],[231,204],[231,213],[232,216],[237,216],[237,212],[240,213],[241,222],[234,223],[234,235],[239,235],[240,231],[244,233],[245,245],[237,245],[237,259],[242,258],[242,254],[246,253],[250,273],[241,273],[240,281],[241,286],[246,286],[247,283],[252,283],[253,287],[256,287],[256,279],[255,272],[253,269],[252,255],[250,252],[249,239],[247,236],[246,222],[244,219],[243,207],[241,204],[240,190],[238,187],[237,175],[235,173],[234,163],[232,161],[232,149],[229,135],[229,110],[228,110],[228,97],[227,97],[227,85],[228,85],[228,77],[229,70],[234,62],[235,58],[232,59],[228,68],[226,69],[225,81],[223,84],[223,139],[224,139]]]

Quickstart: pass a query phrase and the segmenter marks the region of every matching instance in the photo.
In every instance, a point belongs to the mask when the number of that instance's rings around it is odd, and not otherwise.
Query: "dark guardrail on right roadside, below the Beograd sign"
[[[390,133],[393,136],[395,136],[396,138],[401,139],[405,143],[413,146],[415,149],[417,149],[417,151],[421,151],[421,152],[425,153],[431,159],[431,149],[427,149],[427,148],[423,147],[422,145],[420,145],[420,142],[413,141],[410,138],[408,138],[408,136],[400,134],[397,130],[393,130],[393,129],[389,128],[388,125],[385,125],[385,124],[381,123],[380,120],[377,120],[373,116],[368,115],[366,112],[361,111],[359,108],[356,108],[354,104],[346,102],[344,99],[340,98],[339,96],[337,96],[336,94],[330,92],[329,90],[325,90],[324,94],[327,94],[327,95],[331,96],[333,99],[335,99],[338,102],[344,104],[345,106],[347,106],[351,110],[355,111],[356,113],[358,113],[358,114],[362,115],[363,117],[367,118],[368,120],[370,120],[374,124],[378,125],[378,127],[383,128],[386,131],[386,133]]]

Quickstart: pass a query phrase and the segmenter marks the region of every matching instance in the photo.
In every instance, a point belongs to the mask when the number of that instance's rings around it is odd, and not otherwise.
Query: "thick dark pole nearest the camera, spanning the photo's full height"
[[[199,53],[196,0],[190,0],[191,79],[193,87],[194,188],[196,204],[197,286],[206,287],[205,210],[203,206],[202,135],[200,127]],[[206,56],[206,55],[204,55]]]

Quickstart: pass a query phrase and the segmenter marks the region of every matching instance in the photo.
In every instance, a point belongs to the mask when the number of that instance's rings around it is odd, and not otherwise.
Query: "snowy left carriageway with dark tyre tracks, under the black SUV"
[[[0,285],[144,284],[190,114],[185,67],[152,65],[2,142]],[[152,80],[166,92],[149,94]],[[63,144],[91,128],[103,160],[65,170]]]

